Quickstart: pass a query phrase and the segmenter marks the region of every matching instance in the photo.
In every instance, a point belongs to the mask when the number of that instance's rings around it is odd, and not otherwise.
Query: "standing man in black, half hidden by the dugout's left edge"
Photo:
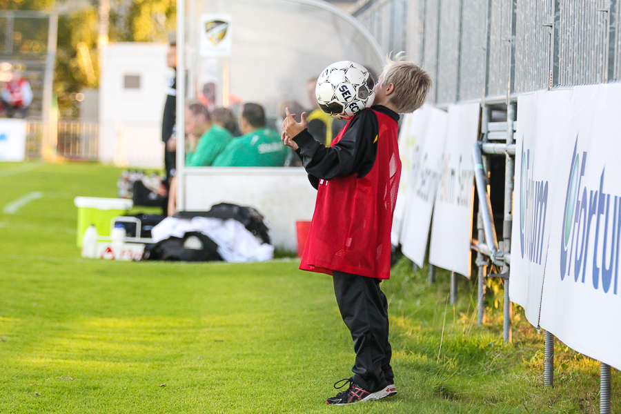
[[[161,121],[161,140],[164,141],[164,168],[166,178],[164,185],[166,190],[170,187],[170,179],[175,175],[177,166],[177,42],[170,41],[166,53],[168,67],[175,70],[175,75],[168,83],[166,103],[164,104],[164,116]],[[168,214],[168,195],[162,204],[162,214]]]

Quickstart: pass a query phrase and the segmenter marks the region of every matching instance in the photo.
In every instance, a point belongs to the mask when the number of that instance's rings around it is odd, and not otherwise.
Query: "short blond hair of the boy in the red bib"
[[[414,112],[420,108],[431,89],[431,77],[415,63],[404,61],[405,52],[395,55],[395,60],[386,57],[383,84],[392,83],[395,92],[390,102],[400,114]]]

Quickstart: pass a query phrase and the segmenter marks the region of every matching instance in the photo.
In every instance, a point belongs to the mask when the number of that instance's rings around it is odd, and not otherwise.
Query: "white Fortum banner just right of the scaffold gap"
[[[511,231],[511,302],[539,326],[544,266],[556,183],[552,162],[558,132],[570,114],[571,90],[537,92],[517,98],[515,187]]]

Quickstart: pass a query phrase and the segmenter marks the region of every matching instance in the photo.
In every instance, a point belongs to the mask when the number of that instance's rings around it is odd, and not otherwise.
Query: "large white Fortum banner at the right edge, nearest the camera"
[[[575,88],[571,110],[554,142],[540,325],[621,369],[621,85]]]

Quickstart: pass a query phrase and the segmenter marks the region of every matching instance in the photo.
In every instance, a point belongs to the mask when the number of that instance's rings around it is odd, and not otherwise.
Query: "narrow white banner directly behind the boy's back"
[[[431,107],[423,106],[411,114],[404,115],[399,132],[399,157],[401,159],[401,179],[395,213],[393,215],[393,227],[391,229],[391,243],[397,246],[400,242],[404,214],[406,210],[406,191],[413,168],[415,144],[420,139],[421,132],[426,125],[424,113]]]

